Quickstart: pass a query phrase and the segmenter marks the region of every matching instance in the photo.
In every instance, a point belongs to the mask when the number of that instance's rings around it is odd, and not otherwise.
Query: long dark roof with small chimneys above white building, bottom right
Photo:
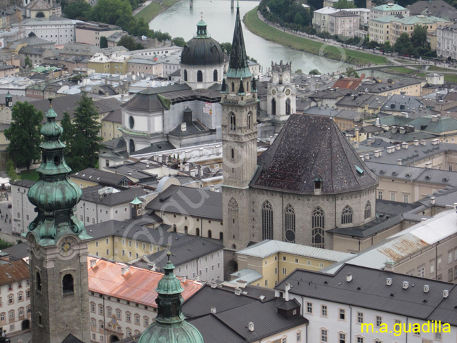
[[[352,274],[350,283],[347,274]],[[386,284],[387,278],[392,285]],[[404,281],[409,283],[406,290]],[[303,297],[457,325],[457,289],[451,283],[349,264],[335,274],[296,269],[275,289],[284,292],[286,283],[292,285],[290,293]],[[424,285],[430,286],[429,292],[423,291]],[[449,297],[443,297],[443,290],[449,290]]]

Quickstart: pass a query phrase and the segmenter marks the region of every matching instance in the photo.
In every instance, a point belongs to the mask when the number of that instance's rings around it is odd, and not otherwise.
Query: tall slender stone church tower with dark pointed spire
[[[221,95],[226,264],[233,263],[234,252],[250,241],[248,188],[257,169],[257,103],[237,5],[232,50]],[[225,270],[228,269],[230,266]]]

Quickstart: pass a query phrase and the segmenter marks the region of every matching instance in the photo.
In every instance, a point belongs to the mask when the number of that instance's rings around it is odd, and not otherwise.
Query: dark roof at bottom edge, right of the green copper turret
[[[218,321],[207,320],[206,318],[209,317]],[[233,334],[240,336],[240,339],[235,340],[235,335],[231,335],[233,340],[224,342],[236,343],[259,342],[279,332],[305,325],[308,320],[300,315],[291,318],[283,317],[276,309],[276,299],[272,299],[268,302],[252,302],[234,309],[217,311],[216,314],[210,313],[203,318],[189,319],[188,322],[195,325],[205,342],[221,342],[211,337],[214,337],[215,332],[219,332],[219,328],[229,328]],[[254,331],[247,328],[247,323],[250,322],[254,323]]]

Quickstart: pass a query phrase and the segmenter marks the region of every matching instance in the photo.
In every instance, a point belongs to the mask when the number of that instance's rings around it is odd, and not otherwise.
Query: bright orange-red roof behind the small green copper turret
[[[91,268],[91,259],[97,260],[94,268]],[[155,304],[155,298],[157,297],[155,289],[163,274],[130,266],[129,271],[122,276],[122,268],[124,266],[127,266],[127,264],[89,257],[87,261],[89,291],[157,308],[157,304]],[[181,280],[181,278],[178,279]],[[186,280],[181,285],[184,288],[182,293],[184,300],[203,287],[202,283],[193,280]]]

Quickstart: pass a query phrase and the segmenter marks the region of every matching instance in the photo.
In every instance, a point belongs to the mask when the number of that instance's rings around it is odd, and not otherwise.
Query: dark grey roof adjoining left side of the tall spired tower
[[[172,185],[149,202],[146,209],[222,220],[222,193]]]

